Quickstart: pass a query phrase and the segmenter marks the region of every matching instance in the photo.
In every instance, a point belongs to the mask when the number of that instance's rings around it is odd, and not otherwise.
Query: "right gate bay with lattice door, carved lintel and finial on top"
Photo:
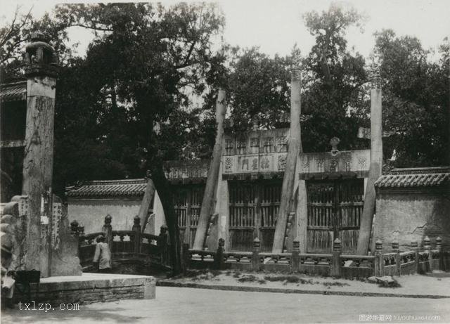
[[[300,238],[306,251],[329,253],[340,238],[342,253],[355,253],[364,206],[364,188],[371,150],[340,151],[338,138],[324,153],[300,154],[299,177],[306,181],[307,209],[297,210]]]

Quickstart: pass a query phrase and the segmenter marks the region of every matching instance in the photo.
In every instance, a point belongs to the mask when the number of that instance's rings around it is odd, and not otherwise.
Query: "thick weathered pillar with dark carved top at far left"
[[[26,46],[27,126],[23,159],[23,195],[28,196],[25,269],[50,276],[53,124],[58,60],[48,35],[33,32]],[[42,225],[41,225],[42,221]]]

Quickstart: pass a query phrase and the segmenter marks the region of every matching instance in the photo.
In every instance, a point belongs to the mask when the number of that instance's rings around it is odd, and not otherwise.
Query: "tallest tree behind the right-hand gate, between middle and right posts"
[[[316,38],[303,60],[302,111],[311,116],[302,125],[306,152],[329,150],[333,136],[340,138],[342,148],[361,147],[356,133],[367,120],[363,113],[367,105],[365,60],[347,49],[345,31],[361,25],[362,20],[356,11],[343,11],[335,5],[321,14],[312,11],[304,15],[307,29]]]

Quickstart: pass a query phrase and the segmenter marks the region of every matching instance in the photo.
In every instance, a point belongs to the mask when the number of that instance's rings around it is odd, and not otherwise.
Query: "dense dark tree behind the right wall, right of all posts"
[[[392,30],[375,34],[373,59],[383,86],[385,156],[395,150],[397,167],[443,165],[449,134],[448,70],[432,63],[416,37],[397,37]],[[442,53],[442,60],[445,51]]]

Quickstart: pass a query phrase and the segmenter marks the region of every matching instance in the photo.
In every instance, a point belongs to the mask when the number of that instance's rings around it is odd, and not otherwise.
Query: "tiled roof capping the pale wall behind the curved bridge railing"
[[[66,188],[68,197],[136,197],[146,191],[145,179],[102,180]]]

